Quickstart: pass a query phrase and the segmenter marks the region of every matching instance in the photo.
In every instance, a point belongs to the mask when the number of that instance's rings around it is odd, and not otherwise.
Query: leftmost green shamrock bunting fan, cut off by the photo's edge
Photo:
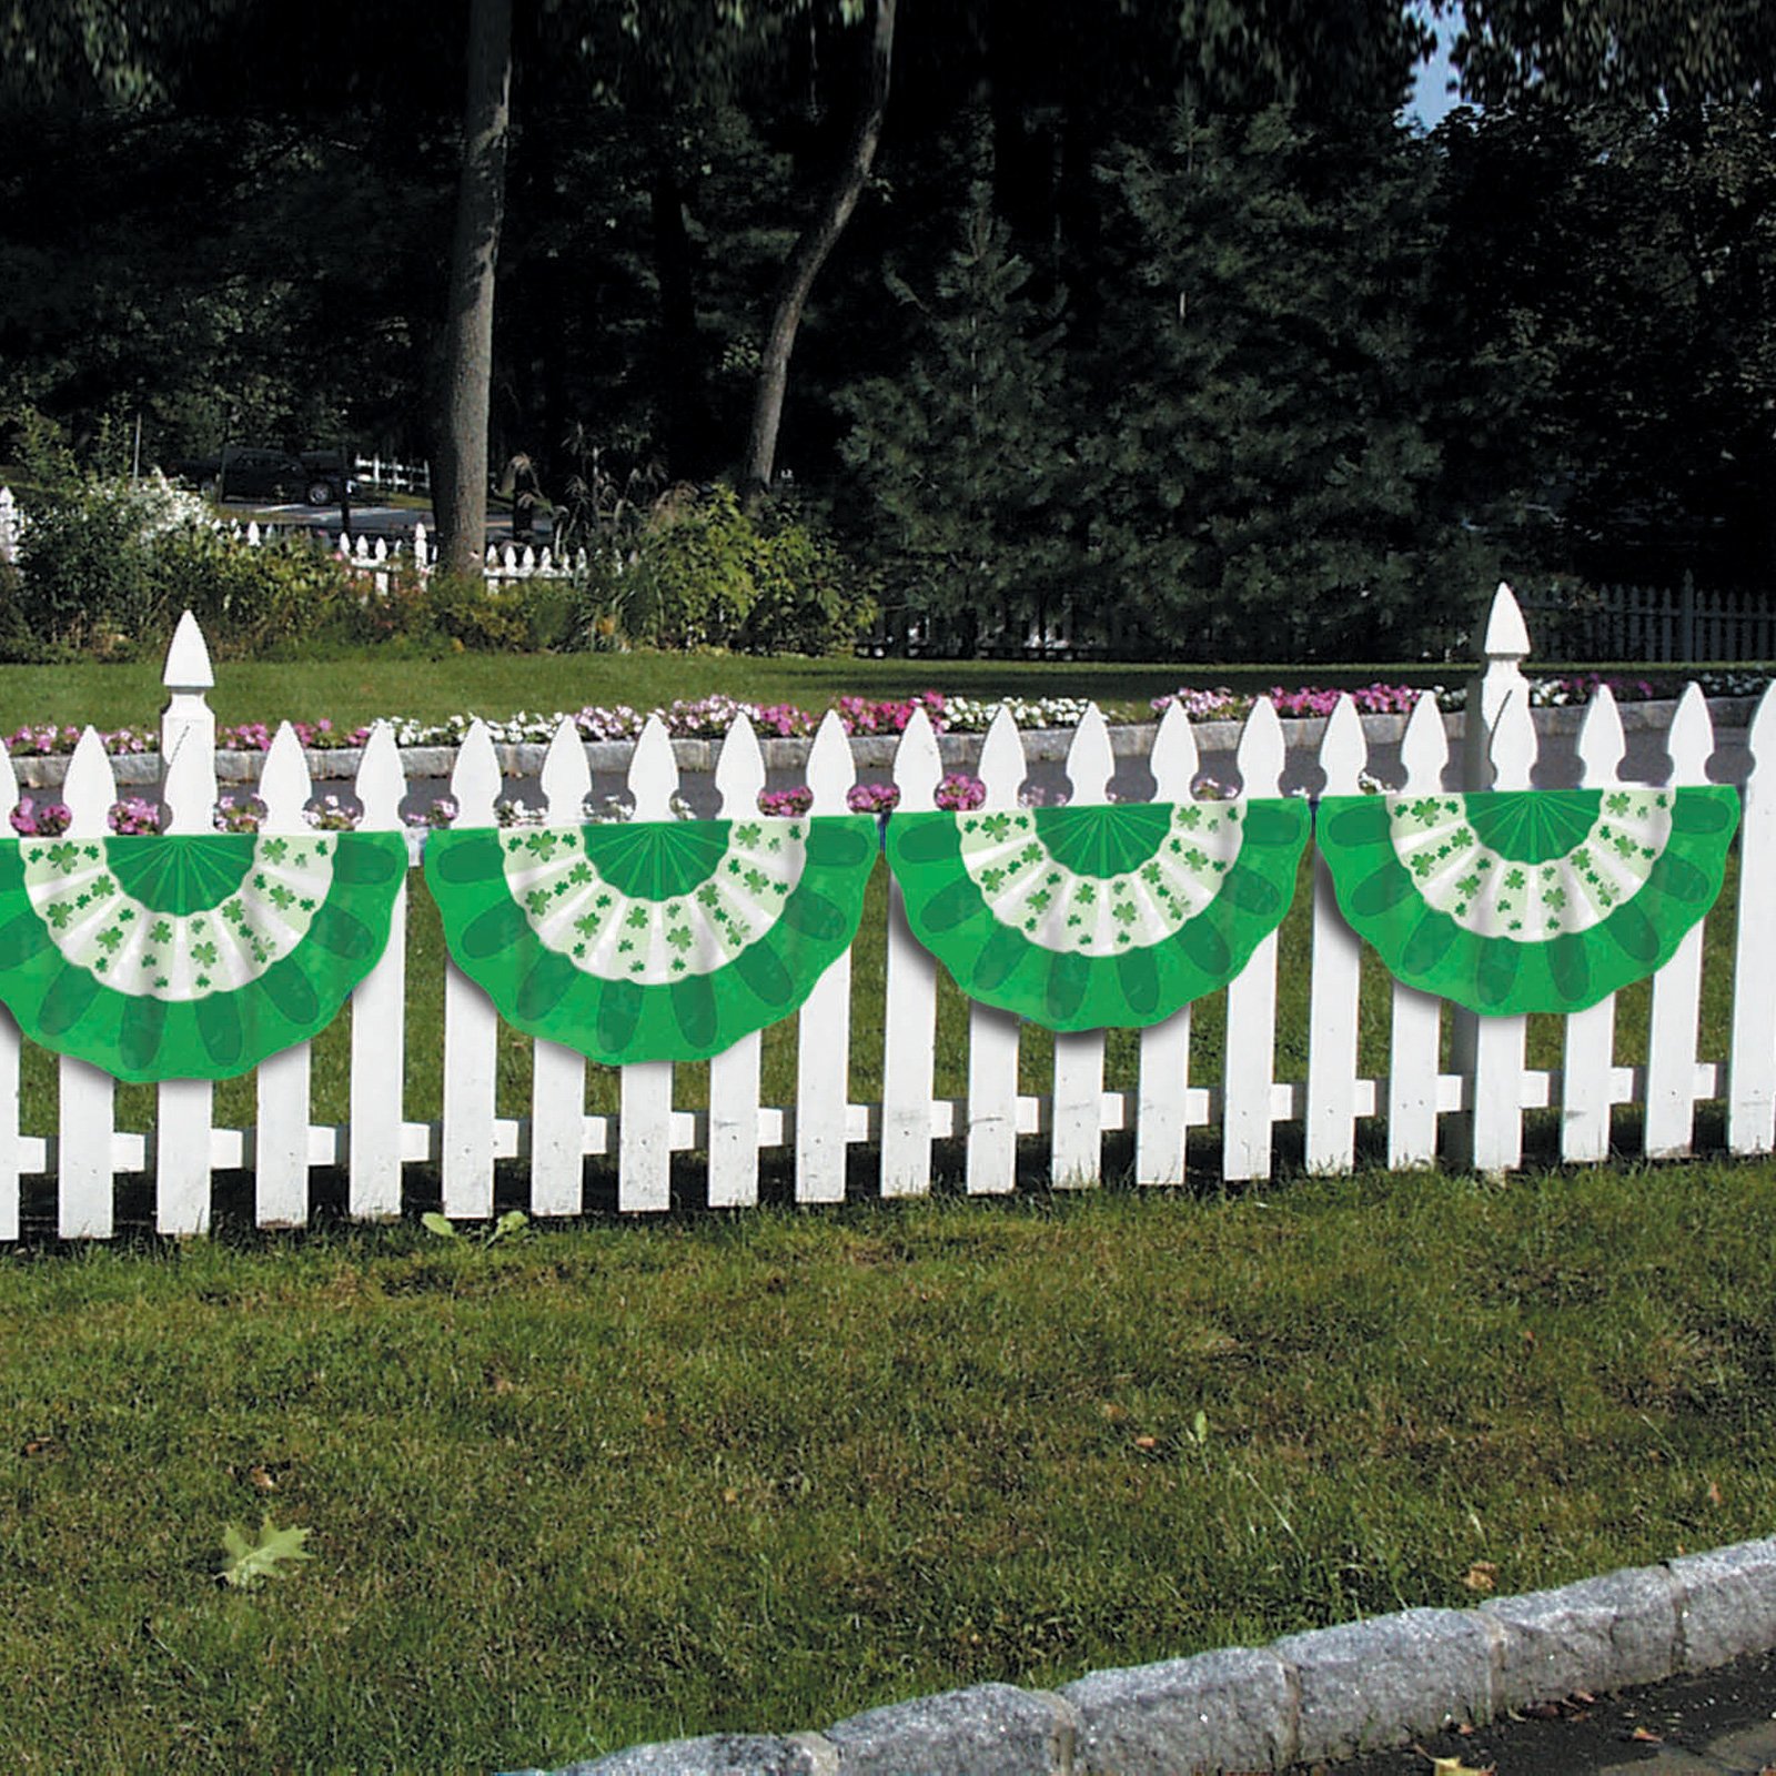
[[[0,844],[0,1000],[119,1080],[226,1080],[323,1030],[389,941],[400,833]]]

